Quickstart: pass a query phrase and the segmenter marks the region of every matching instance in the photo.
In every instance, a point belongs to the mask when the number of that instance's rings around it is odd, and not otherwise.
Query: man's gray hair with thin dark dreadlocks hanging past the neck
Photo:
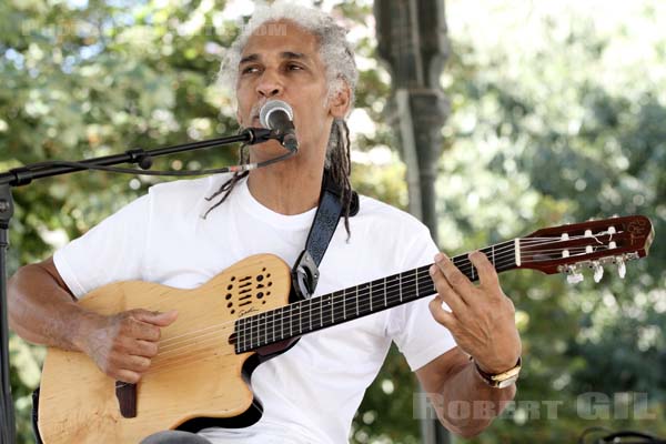
[[[289,20],[304,30],[316,36],[320,43],[320,57],[326,68],[326,83],[329,85],[327,100],[335,97],[345,85],[351,92],[351,104],[354,103],[354,92],[359,82],[359,71],[354,61],[354,53],[346,41],[346,30],[335,23],[327,13],[312,8],[291,4],[286,1],[276,1],[268,6],[258,6],[254,14],[243,28],[241,34],[228,50],[224,61],[220,68],[219,81],[226,85],[235,85],[238,81],[238,67],[241,54],[248,39],[253,33],[266,31],[268,22],[279,20]],[[269,28],[268,31],[270,32]],[[352,107],[350,107],[351,112]],[[349,113],[347,113],[349,115]],[[250,151],[246,145],[240,150],[241,163],[250,162]],[[344,224],[350,235],[349,215],[352,204],[352,185],[350,175],[352,170],[350,130],[344,119],[335,119],[331,125],[331,134],[326,148],[325,169],[330,179],[342,192],[342,205],[344,213]],[[245,178],[249,172],[234,173],[220,189],[210,198],[209,201],[223,194],[222,198],[204,214],[204,218],[216,206],[222,204],[239,180]]]

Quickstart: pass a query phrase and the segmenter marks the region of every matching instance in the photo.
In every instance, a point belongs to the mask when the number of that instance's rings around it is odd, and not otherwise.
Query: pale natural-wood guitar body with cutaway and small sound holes
[[[139,443],[163,430],[198,431],[211,425],[248,426],[262,407],[250,389],[262,360],[293,345],[236,354],[234,321],[289,303],[291,275],[278,256],[250,256],[206,284],[179,290],[147,282],[120,282],[80,300],[111,315],[132,309],[178,310],[162,329],[160,351],[135,385],[135,416],[124,417],[115,381],[85,354],[49,349],[42,370],[39,432],[46,444]]]

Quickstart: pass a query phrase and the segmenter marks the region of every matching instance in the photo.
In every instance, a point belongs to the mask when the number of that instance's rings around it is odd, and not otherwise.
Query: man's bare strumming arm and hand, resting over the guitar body
[[[53,259],[27,265],[8,289],[9,325],[27,341],[88,354],[107,375],[135,383],[158,354],[160,327],[178,313],[130,310],[104,316],[75,302]]]

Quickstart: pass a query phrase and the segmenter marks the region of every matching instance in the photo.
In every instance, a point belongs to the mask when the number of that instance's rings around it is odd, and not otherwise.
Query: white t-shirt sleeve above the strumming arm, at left
[[[58,250],[53,262],[74,296],[112,282],[141,279],[149,224],[147,194]]]

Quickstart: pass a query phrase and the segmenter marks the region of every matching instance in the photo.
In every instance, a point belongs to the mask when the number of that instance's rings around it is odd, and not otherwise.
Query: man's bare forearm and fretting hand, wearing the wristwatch
[[[442,423],[463,436],[481,433],[516,392],[515,385],[487,385],[467,356],[473,356],[484,373],[501,374],[516,365],[522,351],[515,307],[502,291],[495,268],[481,252],[470,254],[470,261],[478,271],[478,285],[448,258],[435,256],[430,271],[437,295],[430,310],[448,329],[457,347],[417,371]],[[444,302],[451,311],[442,307]]]

